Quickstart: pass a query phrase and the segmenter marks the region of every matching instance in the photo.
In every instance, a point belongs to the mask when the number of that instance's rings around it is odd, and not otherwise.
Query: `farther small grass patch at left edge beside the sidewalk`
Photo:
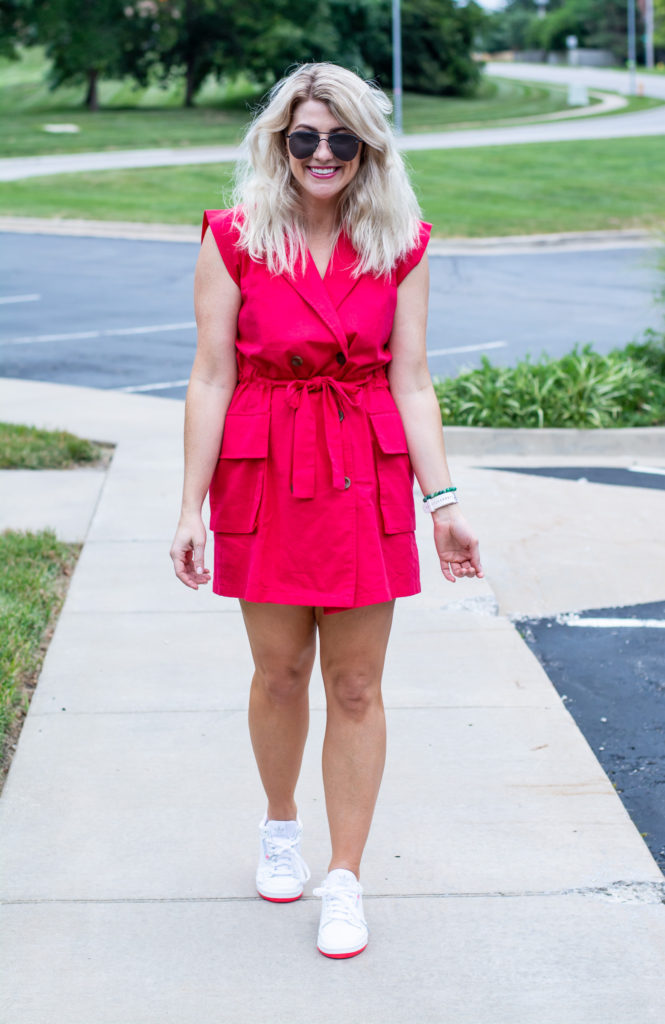
[[[0,423],[0,469],[66,469],[100,457],[97,444],[65,430]]]

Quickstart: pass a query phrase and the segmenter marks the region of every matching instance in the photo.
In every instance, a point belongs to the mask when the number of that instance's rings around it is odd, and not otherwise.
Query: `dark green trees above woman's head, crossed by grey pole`
[[[332,60],[391,82],[387,0],[0,0],[0,24],[3,4],[36,11],[52,84],[85,81],[91,110],[97,82],[122,75],[141,85],[182,76],[188,106],[211,74],[246,72],[267,86],[303,60]],[[471,92],[480,68],[470,49],[484,17],[474,0],[464,7],[403,0],[402,10],[405,86]]]

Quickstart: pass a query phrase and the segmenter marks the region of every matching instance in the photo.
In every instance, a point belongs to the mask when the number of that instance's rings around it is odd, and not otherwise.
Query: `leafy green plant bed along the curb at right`
[[[444,424],[469,427],[641,427],[665,423],[663,339],[615,349],[590,345],[559,359],[527,356],[434,382]]]

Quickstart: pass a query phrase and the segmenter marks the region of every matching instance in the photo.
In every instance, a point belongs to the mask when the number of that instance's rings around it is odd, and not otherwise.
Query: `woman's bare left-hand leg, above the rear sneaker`
[[[254,659],[249,731],[267,817],[295,819],[295,786],[309,725],[307,687],[317,650],[314,609],[241,601]]]

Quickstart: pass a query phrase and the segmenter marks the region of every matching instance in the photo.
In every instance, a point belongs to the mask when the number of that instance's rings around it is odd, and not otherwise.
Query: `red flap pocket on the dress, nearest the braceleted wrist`
[[[397,410],[370,413],[370,422],[383,528],[386,534],[412,532],[416,528],[413,469],[402,418]]]

